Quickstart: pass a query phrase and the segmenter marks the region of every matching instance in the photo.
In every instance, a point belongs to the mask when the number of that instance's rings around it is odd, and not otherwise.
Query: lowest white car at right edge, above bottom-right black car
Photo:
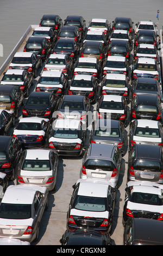
[[[151,181],[129,181],[123,209],[123,220],[133,218],[151,218],[162,221],[163,186]]]

